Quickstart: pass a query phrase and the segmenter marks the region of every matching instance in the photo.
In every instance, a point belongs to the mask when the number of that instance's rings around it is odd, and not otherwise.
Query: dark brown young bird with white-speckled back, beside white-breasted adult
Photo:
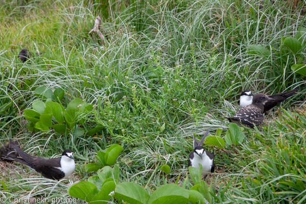
[[[252,104],[242,107],[233,117],[229,117],[228,120],[238,125],[241,123],[245,126],[254,128],[254,124],[258,126],[263,122],[263,113],[266,104],[274,103],[274,100],[275,99],[262,93],[254,94]]]

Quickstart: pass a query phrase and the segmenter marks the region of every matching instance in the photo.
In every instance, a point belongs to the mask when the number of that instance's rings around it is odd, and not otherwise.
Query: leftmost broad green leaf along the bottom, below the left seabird
[[[90,182],[79,182],[68,188],[70,196],[90,202],[92,197],[99,192],[98,188]]]

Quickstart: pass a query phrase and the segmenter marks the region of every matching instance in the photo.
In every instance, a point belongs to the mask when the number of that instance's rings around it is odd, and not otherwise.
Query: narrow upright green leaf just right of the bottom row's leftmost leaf
[[[101,190],[98,194],[92,197],[90,204],[107,204],[111,196],[109,195],[112,191],[115,190],[115,182],[107,182],[101,187]],[[103,201],[104,200],[104,201]],[[95,202],[96,201],[96,202]]]

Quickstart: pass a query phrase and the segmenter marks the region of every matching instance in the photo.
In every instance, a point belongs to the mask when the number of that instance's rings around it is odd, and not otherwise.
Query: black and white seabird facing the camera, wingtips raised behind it
[[[194,150],[191,151],[189,155],[189,163],[188,163],[188,166],[192,166],[198,169],[200,169],[199,164],[202,165],[201,174],[204,175],[204,180],[206,179],[208,173],[212,173],[215,171],[215,163],[214,163],[215,155],[205,150],[204,147],[202,147],[202,143],[204,142],[209,132],[210,129],[202,137],[200,143],[198,143],[195,137],[193,136]]]

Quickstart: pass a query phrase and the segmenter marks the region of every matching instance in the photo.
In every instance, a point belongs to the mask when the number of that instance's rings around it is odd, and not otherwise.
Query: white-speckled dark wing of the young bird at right
[[[235,115],[230,119],[239,120],[242,124],[254,127],[253,123],[260,125],[264,120],[264,115],[262,114],[262,109],[253,104],[245,106],[239,109]]]

